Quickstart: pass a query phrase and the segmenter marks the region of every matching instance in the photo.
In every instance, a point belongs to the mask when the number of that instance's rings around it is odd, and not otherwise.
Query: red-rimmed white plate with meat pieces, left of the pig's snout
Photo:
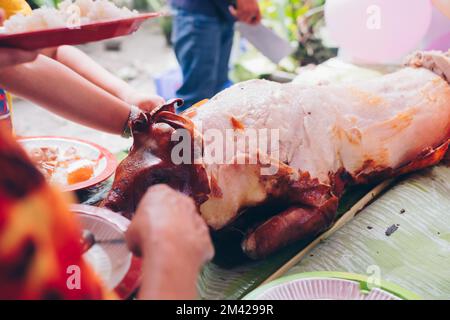
[[[114,156],[92,142],[64,137],[19,141],[47,180],[66,192],[94,187],[111,177],[117,167]]]

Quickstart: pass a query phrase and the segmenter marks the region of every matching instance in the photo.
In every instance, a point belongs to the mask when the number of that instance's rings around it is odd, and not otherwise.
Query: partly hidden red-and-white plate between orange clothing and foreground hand
[[[83,258],[98,274],[104,285],[121,299],[130,298],[141,280],[141,260],[125,241],[130,221],[110,210],[72,205],[83,230]]]

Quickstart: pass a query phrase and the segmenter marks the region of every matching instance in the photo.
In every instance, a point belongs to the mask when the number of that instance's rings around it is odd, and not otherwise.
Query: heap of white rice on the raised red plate
[[[16,14],[4,23],[5,33],[76,27],[93,22],[131,18],[137,11],[117,7],[109,0],[64,0],[58,8],[43,7],[31,15]]]

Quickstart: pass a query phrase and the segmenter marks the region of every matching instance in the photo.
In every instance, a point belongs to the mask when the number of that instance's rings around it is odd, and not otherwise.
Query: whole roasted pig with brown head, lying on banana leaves
[[[182,115],[173,101],[132,124],[134,145],[103,205],[131,216],[150,185],[167,183],[193,197],[217,231],[248,208],[279,204],[242,241],[249,257],[263,258],[329,228],[348,186],[440,162],[450,143],[449,79],[450,52],[426,52],[365,82],[248,81]],[[173,158],[180,129],[192,137],[181,164]]]

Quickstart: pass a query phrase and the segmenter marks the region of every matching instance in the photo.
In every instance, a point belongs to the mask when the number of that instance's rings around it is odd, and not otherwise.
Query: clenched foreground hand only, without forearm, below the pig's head
[[[127,243],[137,255],[182,256],[187,265],[201,267],[212,259],[214,249],[208,227],[194,201],[166,185],[147,191],[127,231]]]

